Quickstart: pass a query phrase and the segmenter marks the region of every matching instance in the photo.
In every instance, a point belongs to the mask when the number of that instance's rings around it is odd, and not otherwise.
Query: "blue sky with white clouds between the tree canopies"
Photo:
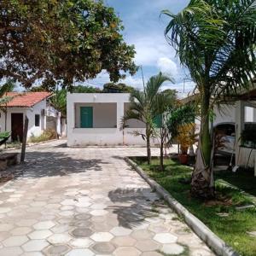
[[[180,66],[174,49],[166,42],[164,30],[168,19],[164,15],[160,16],[161,10],[164,9],[177,14],[189,0],[105,0],[105,3],[113,7],[123,20],[125,42],[135,45],[135,62],[143,67],[145,80],[161,71],[175,80],[175,84],[164,84],[163,89],[177,90],[179,96],[187,95],[193,90],[194,84],[188,80],[189,73]],[[102,87],[108,82],[108,73],[103,71],[96,79],[88,81],[88,84]],[[120,82],[138,89],[143,88],[141,71],[133,77],[128,74],[126,79]]]

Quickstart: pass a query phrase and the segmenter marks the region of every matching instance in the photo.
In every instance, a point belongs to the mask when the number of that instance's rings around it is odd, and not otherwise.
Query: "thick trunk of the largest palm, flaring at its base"
[[[205,94],[201,102],[201,133],[192,175],[191,195],[203,199],[214,197],[212,172],[212,141],[209,131],[210,96]]]

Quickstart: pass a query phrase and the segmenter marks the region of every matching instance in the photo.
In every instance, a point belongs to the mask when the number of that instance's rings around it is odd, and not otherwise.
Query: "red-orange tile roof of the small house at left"
[[[40,92],[8,92],[7,96],[13,96],[14,98],[7,103],[7,107],[23,107],[31,108],[38,102],[42,102],[44,99],[51,96],[51,93],[46,91]]]

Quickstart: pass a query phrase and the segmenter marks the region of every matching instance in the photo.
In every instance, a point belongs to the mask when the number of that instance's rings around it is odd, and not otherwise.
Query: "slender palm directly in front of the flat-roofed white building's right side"
[[[125,128],[126,121],[129,119],[137,119],[145,124],[146,132],[142,136],[146,138],[147,142],[148,165],[151,163],[150,137],[154,134],[154,119],[160,114],[156,108],[156,96],[160,93],[160,87],[166,81],[172,82],[172,79],[163,73],[159,73],[148,80],[143,91],[131,91],[131,105],[122,120],[123,128]],[[135,135],[138,135],[137,132],[135,132]]]

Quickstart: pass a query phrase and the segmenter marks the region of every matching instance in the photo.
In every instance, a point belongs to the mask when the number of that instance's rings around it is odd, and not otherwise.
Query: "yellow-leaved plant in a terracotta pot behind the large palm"
[[[189,147],[195,143],[195,124],[181,125],[178,127],[177,143],[180,145],[178,159],[182,165],[189,161]]]

